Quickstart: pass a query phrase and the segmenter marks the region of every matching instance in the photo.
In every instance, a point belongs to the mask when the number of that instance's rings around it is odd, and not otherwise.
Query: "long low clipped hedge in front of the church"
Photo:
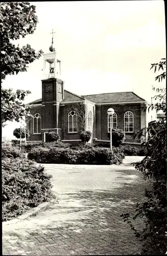
[[[88,148],[72,150],[71,148],[34,148],[27,156],[38,163],[63,164],[120,164],[124,153],[118,148],[113,152],[108,148]]]

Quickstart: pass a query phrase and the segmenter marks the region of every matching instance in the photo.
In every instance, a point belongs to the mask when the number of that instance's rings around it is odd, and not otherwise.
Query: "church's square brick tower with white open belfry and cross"
[[[42,79],[42,140],[48,132],[56,132],[61,137],[60,101],[64,98],[64,81],[61,79],[61,60],[57,57],[53,34],[48,53],[43,54]]]

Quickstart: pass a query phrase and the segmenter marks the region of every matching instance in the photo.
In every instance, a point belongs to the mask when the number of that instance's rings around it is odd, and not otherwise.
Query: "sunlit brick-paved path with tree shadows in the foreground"
[[[17,224],[3,224],[3,255],[138,254],[123,212],[134,212],[146,186],[131,165],[45,164],[59,204]],[[137,225],[142,225],[139,220]]]

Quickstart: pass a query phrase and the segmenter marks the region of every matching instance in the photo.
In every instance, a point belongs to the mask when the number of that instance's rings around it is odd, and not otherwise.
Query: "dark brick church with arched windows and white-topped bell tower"
[[[143,111],[147,105],[145,99],[134,92],[76,95],[65,90],[61,79],[62,63],[53,47],[53,37],[49,50],[43,54],[42,98],[30,103],[33,117],[27,122],[29,142],[47,142],[47,134],[56,132],[62,142],[78,144],[83,130],[91,131],[92,143],[109,142],[111,125],[125,132],[127,144],[141,144],[146,139],[146,136],[142,141],[132,137],[156,119],[155,111]],[[109,108],[114,109],[112,116],[107,115]],[[80,110],[84,111],[82,115]]]

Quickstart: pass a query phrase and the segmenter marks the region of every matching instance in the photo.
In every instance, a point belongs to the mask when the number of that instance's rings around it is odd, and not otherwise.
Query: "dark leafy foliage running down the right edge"
[[[162,59],[159,63],[152,64],[154,71],[165,68],[166,61]],[[165,72],[156,76],[155,80],[165,79]],[[155,88],[153,88],[155,90]],[[158,102],[150,104],[148,109],[161,110],[166,114],[166,91],[164,88],[157,88],[157,95],[154,97]],[[136,237],[143,241],[142,254],[165,254],[166,234],[167,234],[167,199],[166,199],[166,121],[152,121],[148,127],[137,132],[140,138],[143,130],[149,132],[146,142],[150,157],[145,157],[141,162],[135,163],[135,168],[140,170],[145,180],[149,180],[150,189],[145,190],[146,200],[136,205],[137,217],[144,218],[145,226],[142,230],[137,230],[130,218],[129,213],[122,217],[128,221]]]

